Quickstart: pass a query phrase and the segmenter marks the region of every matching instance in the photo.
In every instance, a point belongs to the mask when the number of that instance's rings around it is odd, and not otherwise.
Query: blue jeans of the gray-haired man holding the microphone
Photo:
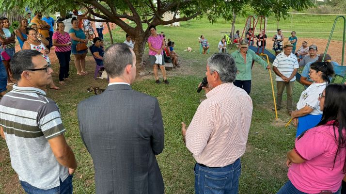
[[[195,194],[237,194],[240,171],[240,159],[233,164],[216,168],[196,163]]]

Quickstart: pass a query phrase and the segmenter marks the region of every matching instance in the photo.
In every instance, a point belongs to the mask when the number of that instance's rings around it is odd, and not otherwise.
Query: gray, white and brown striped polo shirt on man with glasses
[[[60,185],[59,178],[68,177],[47,141],[65,132],[60,110],[43,90],[14,85],[1,98],[0,126],[19,180],[51,189]]]

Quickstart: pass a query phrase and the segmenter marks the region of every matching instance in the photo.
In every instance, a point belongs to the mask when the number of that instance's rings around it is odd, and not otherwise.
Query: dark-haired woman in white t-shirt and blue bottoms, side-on
[[[329,62],[315,62],[310,66],[309,76],[314,83],[301,93],[297,111],[291,114],[295,125],[298,125],[296,137],[307,129],[315,127],[321,120],[322,111],[318,96],[329,84],[329,77],[333,73],[333,66]]]

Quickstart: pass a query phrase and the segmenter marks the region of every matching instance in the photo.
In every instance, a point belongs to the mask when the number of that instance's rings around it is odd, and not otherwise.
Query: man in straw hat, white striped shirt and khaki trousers
[[[283,52],[275,57],[273,62],[273,71],[276,74],[276,88],[278,90],[276,96],[277,110],[281,109],[281,101],[283,99],[283,89],[286,87],[287,93],[287,113],[291,115],[293,111],[293,87],[296,80],[296,73],[299,68],[298,59],[292,53],[293,45],[287,41],[283,43]]]

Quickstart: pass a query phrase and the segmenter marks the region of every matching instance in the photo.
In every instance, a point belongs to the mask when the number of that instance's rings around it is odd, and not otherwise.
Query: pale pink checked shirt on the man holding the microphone
[[[245,152],[252,117],[251,97],[233,83],[206,94],[186,133],[186,146],[196,162],[223,167]]]

